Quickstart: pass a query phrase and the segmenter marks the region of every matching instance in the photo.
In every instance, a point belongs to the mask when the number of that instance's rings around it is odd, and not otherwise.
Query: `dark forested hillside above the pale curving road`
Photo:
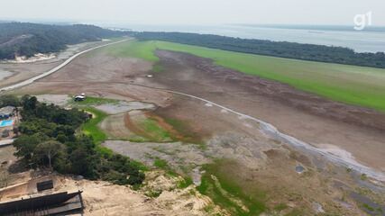
[[[65,49],[69,44],[124,36],[93,25],[47,25],[35,23],[0,23],[0,59],[32,57]]]

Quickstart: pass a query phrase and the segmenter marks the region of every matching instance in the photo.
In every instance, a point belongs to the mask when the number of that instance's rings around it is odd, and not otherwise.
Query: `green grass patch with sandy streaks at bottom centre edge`
[[[245,188],[231,164],[231,161],[222,160],[204,166],[206,173],[197,190],[233,215],[259,215],[267,211],[265,193],[255,187]]]

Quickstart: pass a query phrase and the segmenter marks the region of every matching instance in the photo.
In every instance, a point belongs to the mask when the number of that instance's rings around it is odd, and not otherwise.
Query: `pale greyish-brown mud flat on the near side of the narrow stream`
[[[301,206],[308,210],[316,202],[316,206],[321,206],[325,212],[350,212],[350,215],[359,215],[354,202],[348,201],[349,208],[342,207],[344,211],[330,205],[334,199],[339,199],[344,194],[344,191],[336,190],[329,184],[331,179],[343,179],[349,184],[355,184],[349,180],[350,174],[346,172],[345,166],[335,166],[335,163],[314,153],[288,148],[288,143],[265,134],[261,130],[261,122],[230,111],[223,112],[224,108],[217,107],[214,103],[206,106],[206,102],[199,102],[197,99],[177,98],[173,100],[171,107],[160,108],[156,113],[163,117],[180,117],[189,121],[194,130],[207,132],[206,128],[210,129],[208,132],[212,135],[207,136],[210,138],[206,139],[205,148],[186,142],[136,143],[122,140],[107,140],[103,145],[148,166],[153,166],[156,161],[166,161],[163,162],[166,167],[170,166],[179,174],[189,175],[197,185],[201,184],[206,164],[225,160],[228,162],[217,169],[225,170],[228,175],[236,175],[234,181],[253,188],[251,192],[255,188],[266,189],[264,193],[274,197],[270,199],[274,202],[267,202],[268,205],[289,202],[289,209]],[[195,129],[197,125],[203,128]],[[298,164],[305,168],[301,174],[295,170]],[[298,184],[298,181],[302,184]],[[293,196],[301,199],[297,200]],[[287,197],[291,198],[287,200]],[[319,209],[316,208],[316,211]],[[312,211],[305,212],[312,214]]]

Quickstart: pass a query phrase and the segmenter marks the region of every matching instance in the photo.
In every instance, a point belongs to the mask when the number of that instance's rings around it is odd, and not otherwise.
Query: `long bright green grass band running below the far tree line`
[[[215,64],[276,80],[326,98],[385,111],[385,69],[274,58],[164,41],[130,41],[112,49],[119,56],[159,60],[156,49],[211,58]]]

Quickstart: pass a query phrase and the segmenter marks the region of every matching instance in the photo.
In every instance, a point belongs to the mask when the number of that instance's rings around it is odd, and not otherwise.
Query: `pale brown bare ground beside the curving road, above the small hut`
[[[151,63],[137,58],[105,56],[93,50],[74,59],[57,73],[32,85],[16,90],[16,94],[78,94],[104,96],[124,101],[142,101],[166,105],[171,94],[129,85],[141,83],[151,69]]]

